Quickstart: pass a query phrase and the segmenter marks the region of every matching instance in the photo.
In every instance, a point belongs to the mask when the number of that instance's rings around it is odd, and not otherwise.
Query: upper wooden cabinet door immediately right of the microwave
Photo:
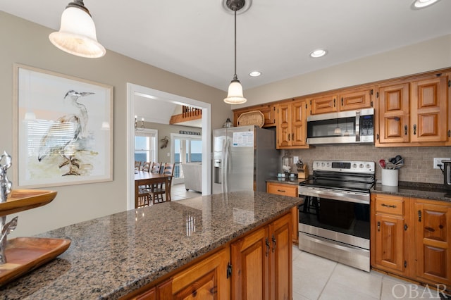
[[[379,87],[378,96],[378,142],[409,142],[409,83]]]

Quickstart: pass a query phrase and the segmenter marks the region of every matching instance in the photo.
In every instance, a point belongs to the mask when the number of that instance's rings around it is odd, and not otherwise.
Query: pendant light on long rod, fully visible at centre
[[[228,94],[224,102],[227,104],[243,104],[247,99],[242,95],[242,86],[237,77],[237,11],[245,6],[245,0],[228,0],[226,4],[228,8],[235,12],[235,74],[228,86]]]

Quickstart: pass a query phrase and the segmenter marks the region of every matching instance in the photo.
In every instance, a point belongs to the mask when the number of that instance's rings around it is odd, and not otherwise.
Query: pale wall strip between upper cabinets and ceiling
[[[234,108],[449,68],[450,66],[451,35],[445,35],[254,89],[247,89],[245,90],[247,103]]]

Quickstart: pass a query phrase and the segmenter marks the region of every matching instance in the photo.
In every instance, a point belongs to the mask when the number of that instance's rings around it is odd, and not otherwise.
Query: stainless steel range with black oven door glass
[[[299,183],[299,249],[369,272],[372,161],[314,161]]]

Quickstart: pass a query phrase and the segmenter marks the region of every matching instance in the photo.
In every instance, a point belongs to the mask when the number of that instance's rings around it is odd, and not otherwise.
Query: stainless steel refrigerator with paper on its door
[[[213,131],[213,194],[266,192],[266,179],[277,176],[276,132],[258,126]]]

